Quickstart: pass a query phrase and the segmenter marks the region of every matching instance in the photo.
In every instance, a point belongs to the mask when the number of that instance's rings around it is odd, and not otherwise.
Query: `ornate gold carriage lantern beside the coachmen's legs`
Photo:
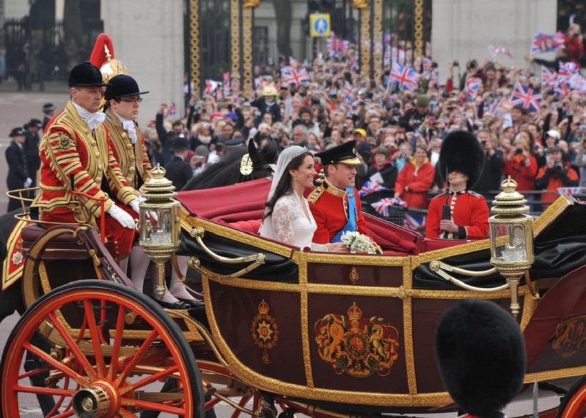
[[[139,204],[140,245],[156,264],[156,293],[165,292],[165,263],[179,248],[181,203],[174,199],[174,185],[165,178],[165,169],[156,165],[143,186],[146,200]],[[150,216],[154,213],[156,216]]]

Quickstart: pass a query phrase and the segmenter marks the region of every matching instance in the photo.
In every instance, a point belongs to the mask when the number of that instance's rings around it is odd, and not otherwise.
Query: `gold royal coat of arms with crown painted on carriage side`
[[[356,302],[347,314],[346,318],[328,313],[315,323],[315,342],[321,359],[332,364],[338,375],[388,375],[398,357],[397,329],[381,317],[363,318]]]

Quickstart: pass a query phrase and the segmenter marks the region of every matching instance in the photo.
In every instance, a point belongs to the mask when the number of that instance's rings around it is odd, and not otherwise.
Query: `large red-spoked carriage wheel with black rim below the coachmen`
[[[203,417],[201,375],[179,327],[148,297],[112,282],[43,295],[12,330],[0,370],[6,418],[19,417],[34,395],[54,405],[45,417]]]

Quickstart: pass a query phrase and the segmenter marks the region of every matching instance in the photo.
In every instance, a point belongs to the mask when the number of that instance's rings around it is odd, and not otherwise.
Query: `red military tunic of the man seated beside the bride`
[[[358,232],[370,236],[362,214],[360,196],[358,196],[356,189],[354,189],[354,196],[356,196],[356,229],[358,229]],[[346,192],[332,186],[327,180],[324,180],[323,185],[312,191],[307,201],[310,202],[310,210],[317,224],[312,242],[316,242],[317,244],[332,242],[336,233],[345,227],[345,224],[348,222],[348,199]]]

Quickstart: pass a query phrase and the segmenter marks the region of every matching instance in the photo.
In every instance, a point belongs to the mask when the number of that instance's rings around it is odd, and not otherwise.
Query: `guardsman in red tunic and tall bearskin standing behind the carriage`
[[[448,189],[430,202],[425,222],[427,238],[487,238],[486,199],[469,190],[480,176],[483,160],[483,150],[469,132],[452,132],[443,140],[438,169],[441,174],[447,173]]]

